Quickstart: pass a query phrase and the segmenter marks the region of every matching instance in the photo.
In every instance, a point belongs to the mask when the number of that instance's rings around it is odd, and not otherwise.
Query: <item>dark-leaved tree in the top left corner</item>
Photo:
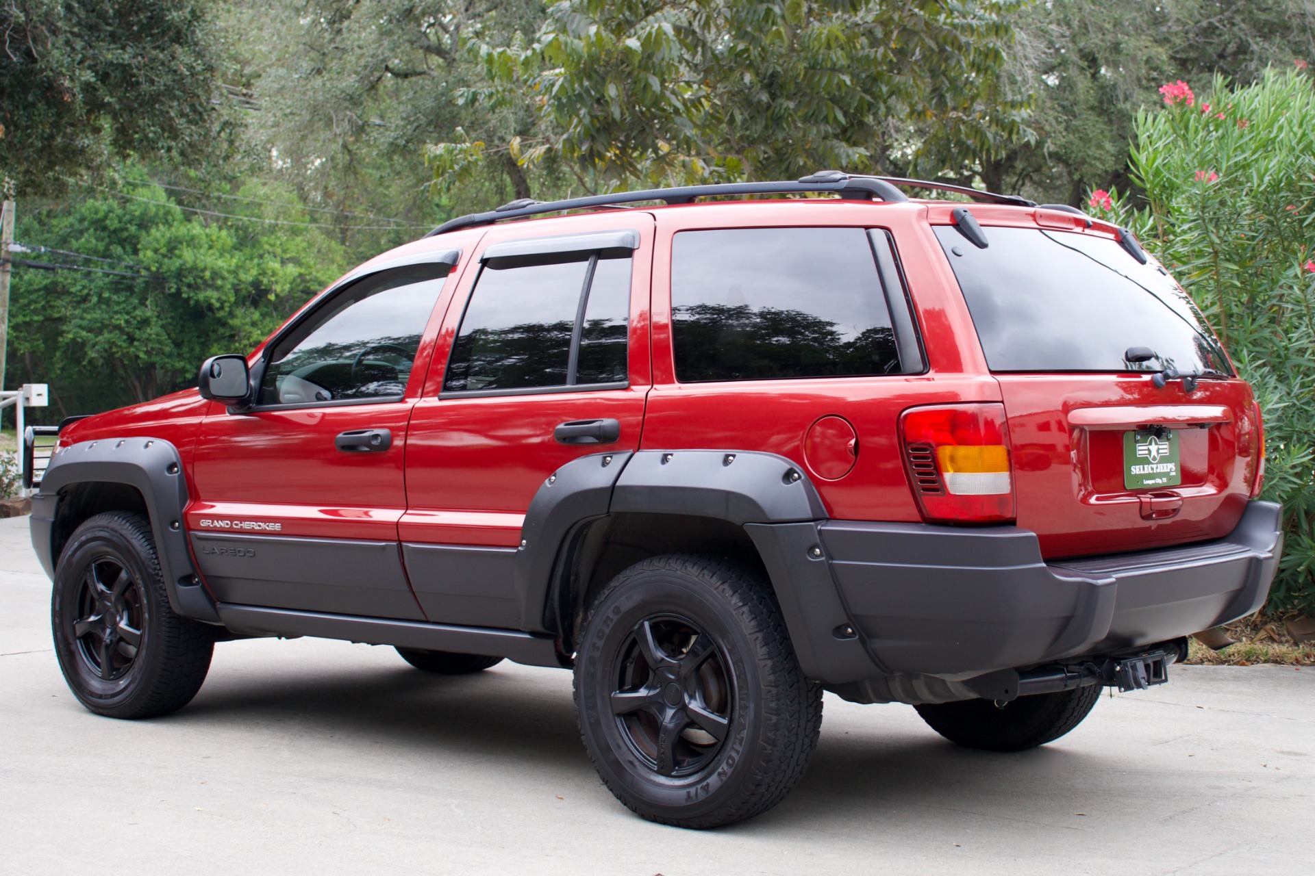
[[[114,154],[213,147],[218,54],[200,0],[0,1],[0,181],[25,196]]]

